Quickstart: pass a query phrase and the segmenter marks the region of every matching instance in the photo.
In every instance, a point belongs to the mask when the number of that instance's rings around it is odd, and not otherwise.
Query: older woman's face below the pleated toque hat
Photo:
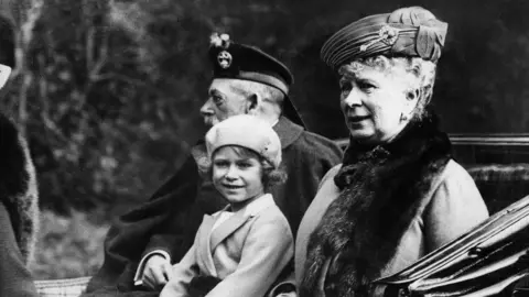
[[[382,69],[357,62],[342,75],[341,109],[350,136],[361,143],[391,141],[408,123],[417,105],[417,78],[403,66]]]

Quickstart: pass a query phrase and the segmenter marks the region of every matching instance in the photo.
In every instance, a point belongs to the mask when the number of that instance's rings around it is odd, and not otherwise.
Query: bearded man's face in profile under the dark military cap
[[[207,101],[201,108],[201,114],[208,127],[229,117],[248,113],[248,96],[241,91],[237,79],[215,78],[209,85]]]

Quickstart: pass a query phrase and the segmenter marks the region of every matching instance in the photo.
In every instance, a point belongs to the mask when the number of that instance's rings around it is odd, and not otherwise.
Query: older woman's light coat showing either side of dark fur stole
[[[295,278],[304,274],[310,235],[319,226],[327,207],[339,196],[334,176],[342,165],[332,168],[323,178],[320,190],[301,222],[295,246]],[[395,274],[420,257],[454,240],[488,217],[485,202],[468,173],[450,161],[434,186],[424,196],[421,210],[400,239],[396,253],[384,268],[382,277]],[[327,265],[328,268],[328,265]],[[326,273],[323,272],[322,276]],[[324,278],[320,282],[323,284]],[[322,295],[323,292],[322,292]],[[374,293],[376,296],[376,293]]]

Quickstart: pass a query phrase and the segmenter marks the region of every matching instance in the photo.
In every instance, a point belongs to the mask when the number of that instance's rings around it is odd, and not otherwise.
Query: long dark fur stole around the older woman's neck
[[[367,296],[451,155],[433,117],[371,150],[352,142],[334,180],[341,194],[309,240],[300,296],[316,296],[322,285],[326,296]]]

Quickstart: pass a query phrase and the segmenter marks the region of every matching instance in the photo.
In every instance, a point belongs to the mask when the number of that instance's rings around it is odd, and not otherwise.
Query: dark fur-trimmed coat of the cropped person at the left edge
[[[26,265],[37,223],[36,175],[25,141],[0,114],[0,296],[37,296]]]

